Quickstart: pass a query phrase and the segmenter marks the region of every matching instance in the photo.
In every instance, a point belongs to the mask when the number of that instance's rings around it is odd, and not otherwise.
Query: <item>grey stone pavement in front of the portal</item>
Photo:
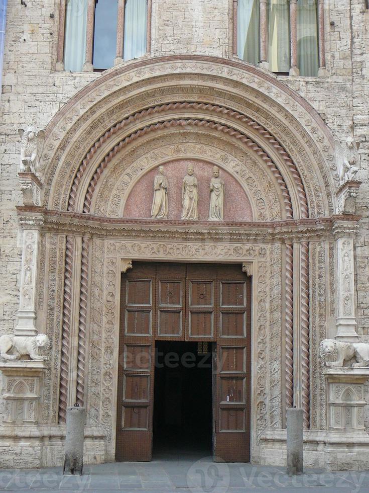
[[[244,493],[245,491],[368,492],[369,471],[309,469],[286,476],[282,467],[214,463],[211,458],[117,462],[85,466],[83,476],[63,476],[61,468],[0,471],[5,491],[121,491],[122,493]]]

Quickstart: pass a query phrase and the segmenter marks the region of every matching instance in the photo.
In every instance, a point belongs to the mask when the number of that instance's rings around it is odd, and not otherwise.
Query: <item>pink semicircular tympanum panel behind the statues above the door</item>
[[[180,221],[183,214],[183,182],[191,167],[197,181],[197,219],[221,220],[210,215],[214,165],[199,159],[173,160],[146,173],[131,190],[124,217]],[[252,221],[251,204],[242,186],[225,170],[219,168],[217,173],[216,179],[222,184],[223,221]],[[221,216],[220,213],[218,215]]]

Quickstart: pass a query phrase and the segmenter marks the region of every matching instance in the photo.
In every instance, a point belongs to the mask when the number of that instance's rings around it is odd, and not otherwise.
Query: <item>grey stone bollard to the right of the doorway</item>
[[[287,474],[303,474],[302,409],[287,409]]]

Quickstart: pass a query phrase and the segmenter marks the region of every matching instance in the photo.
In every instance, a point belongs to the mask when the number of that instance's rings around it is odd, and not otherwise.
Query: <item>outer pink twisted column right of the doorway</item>
[[[301,394],[304,428],[310,428],[309,243],[301,243]]]

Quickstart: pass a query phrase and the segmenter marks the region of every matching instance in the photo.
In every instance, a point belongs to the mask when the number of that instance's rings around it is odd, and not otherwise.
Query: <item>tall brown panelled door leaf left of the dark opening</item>
[[[135,263],[121,279],[116,460],[152,457],[155,272]]]

